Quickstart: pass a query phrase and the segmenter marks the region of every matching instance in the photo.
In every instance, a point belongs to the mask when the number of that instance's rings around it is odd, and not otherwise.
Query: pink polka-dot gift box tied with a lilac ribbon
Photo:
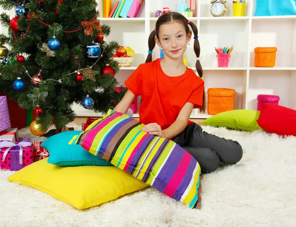
[[[13,143],[9,140],[0,141],[0,167],[17,171],[33,163],[33,150],[30,139]]]

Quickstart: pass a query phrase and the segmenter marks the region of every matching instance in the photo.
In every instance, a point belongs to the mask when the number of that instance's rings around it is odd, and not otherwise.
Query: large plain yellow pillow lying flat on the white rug
[[[58,166],[42,159],[20,169],[9,181],[33,187],[77,209],[86,209],[149,185],[115,166]]]

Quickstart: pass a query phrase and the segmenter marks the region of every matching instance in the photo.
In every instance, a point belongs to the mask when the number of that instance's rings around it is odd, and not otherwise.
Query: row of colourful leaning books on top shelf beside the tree
[[[137,17],[144,0],[118,0],[113,9],[112,0],[99,0],[100,17]]]

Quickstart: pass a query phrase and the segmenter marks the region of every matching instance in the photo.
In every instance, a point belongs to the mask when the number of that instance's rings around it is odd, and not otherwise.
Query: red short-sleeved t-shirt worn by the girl
[[[142,97],[140,122],[157,123],[162,130],[176,121],[186,102],[193,103],[193,108],[201,108],[203,103],[204,81],[190,68],[183,75],[168,76],[160,60],[139,65],[124,84],[135,96]]]

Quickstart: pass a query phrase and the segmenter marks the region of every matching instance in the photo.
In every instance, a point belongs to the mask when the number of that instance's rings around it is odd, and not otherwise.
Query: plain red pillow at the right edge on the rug
[[[257,122],[263,130],[283,136],[296,136],[296,110],[271,103],[261,106]]]

